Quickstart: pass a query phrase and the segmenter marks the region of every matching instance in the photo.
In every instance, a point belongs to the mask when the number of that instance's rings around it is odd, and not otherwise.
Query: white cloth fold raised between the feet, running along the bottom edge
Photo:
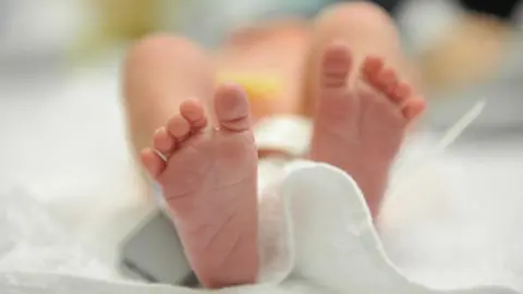
[[[295,162],[262,206],[260,284],[217,293],[516,293],[484,285],[438,291],[405,278],[381,248],[364,198],[342,171]],[[272,196],[270,196],[272,195]],[[271,209],[265,209],[271,207]],[[265,238],[264,236],[270,236]],[[0,273],[1,293],[208,293],[167,285],[108,282],[49,273]]]

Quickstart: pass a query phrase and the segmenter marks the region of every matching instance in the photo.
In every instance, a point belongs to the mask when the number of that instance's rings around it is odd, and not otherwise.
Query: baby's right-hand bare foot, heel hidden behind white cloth
[[[351,174],[376,215],[406,126],[424,100],[414,98],[380,58],[368,57],[349,85],[352,66],[346,46],[332,44],[325,51],[311,158]]]

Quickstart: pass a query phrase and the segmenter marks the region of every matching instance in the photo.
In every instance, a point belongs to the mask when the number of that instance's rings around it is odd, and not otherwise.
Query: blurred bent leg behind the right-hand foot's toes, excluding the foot
[[[409,63],[400,44],[399,32],[389,14],[380,7],[368,3],[341,3],[327,8],[317,17],[313,28],[312,48],[308,51],[304,73],[303,95],[305,110],[314,115],[315,105],[321,89],[319,77],[325,49],[333,41],[344,42],[352,51],[348,84],[357,81],[358,66],[368,56],[387,60],[414,91],[421,90],[417,71]]]

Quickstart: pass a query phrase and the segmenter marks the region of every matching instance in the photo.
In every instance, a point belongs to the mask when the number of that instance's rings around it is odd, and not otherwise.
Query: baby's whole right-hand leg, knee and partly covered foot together
[[[398,33],[377,7],[333,7],[316,23],[312,62],[311,157],[350,173],[376,215],[406,126],[424,108]]]

